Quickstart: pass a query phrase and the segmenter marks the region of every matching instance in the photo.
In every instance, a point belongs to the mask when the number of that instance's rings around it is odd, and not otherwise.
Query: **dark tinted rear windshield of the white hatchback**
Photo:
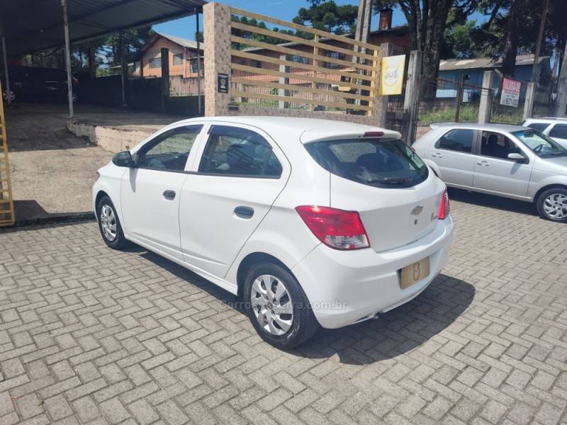
[[[325,140],[307,143],[305,149],[330,173],[368,186],[408,188],[429,175],[420,157],[401,140]]]

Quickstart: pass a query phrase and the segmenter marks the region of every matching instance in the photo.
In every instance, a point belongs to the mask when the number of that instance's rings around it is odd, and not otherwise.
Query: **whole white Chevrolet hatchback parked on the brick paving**
[[[417,296],[447,262],[444,183],[381,128],[302,118],[180,121],[99,170],[104,241],[132,241],[243,295],[291,348]]]

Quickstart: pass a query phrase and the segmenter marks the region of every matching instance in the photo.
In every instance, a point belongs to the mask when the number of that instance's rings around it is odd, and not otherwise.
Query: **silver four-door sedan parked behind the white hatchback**
[[[447,186],[532,202],[567,222],[567,149],[520,125],[432,125],[412,146]]]

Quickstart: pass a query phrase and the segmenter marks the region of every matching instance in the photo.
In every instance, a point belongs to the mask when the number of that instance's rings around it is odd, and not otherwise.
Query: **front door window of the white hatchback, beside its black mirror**
[[[137,166],[162,171],[183,171],[191,147],[203,125],[172,128],[155,137],[137,154]]]

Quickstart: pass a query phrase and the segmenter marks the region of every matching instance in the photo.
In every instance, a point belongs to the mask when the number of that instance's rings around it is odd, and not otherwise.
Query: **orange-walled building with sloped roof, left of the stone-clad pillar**
[[[197,77],[197,56],[201,60],[203,75],[203,49],[197,55],[197,42],[186,38],[174,37],[164,33],[155,33],[145,45],[140,47],[135,62],[136,77],[162,77],[162,48],[169,50],[169,75],[184,78]]]

